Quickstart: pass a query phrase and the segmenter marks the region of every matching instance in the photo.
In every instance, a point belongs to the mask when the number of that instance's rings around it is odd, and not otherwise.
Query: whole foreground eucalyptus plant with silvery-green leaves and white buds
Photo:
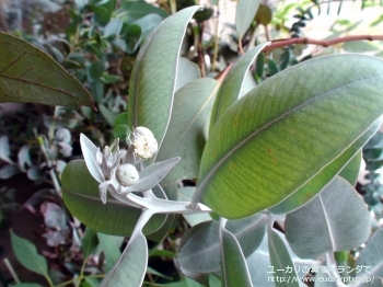
[[[117,125],[129,130],[126,150],[115,141],[102,153],[82,136],[84,161],[62,173],[63,199],[76,217],[98,232],[130,237],[101,286],[141,286],[144,234],[161,239],[174,213],[193,226],[177,263],[202,285],[374,280],[382,259],[367,253],[381,232],[361,251],[361,268],[350,278],[336,259],[371,232],[353,185],[360,149],[382,124],[383,62],[351,54],[317,57],[246,91],[246,72],[265,43],[224,77],[192,80],[174,92],[185,28],[199,9],[167,18],[141,47],[128,111]],[[154,152],[140,156],[140,147],[152,144]],[[197,186],[175,186],[185,179],[198,179]],[[174,193],[188,200],[170,199]],[[283,233],[275,229],[280,221]]]

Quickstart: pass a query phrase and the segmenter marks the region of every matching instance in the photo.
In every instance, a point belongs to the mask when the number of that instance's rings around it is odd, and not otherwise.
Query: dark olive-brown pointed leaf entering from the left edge
[[[25,41],[0,33],[0,102],[94,107],[74,77]]]

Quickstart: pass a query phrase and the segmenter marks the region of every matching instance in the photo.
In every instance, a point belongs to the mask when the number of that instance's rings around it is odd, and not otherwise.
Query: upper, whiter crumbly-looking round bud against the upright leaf
[[[150,159],[159,151],[159,145],[149,128],[136,127],[134,137],[135,153],[141,159]]]

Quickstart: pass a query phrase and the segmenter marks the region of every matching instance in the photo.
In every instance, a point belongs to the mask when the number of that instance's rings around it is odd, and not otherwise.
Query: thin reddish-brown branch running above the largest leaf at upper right
[[[279,47],[285,47],[293,44],[309,44],[318,45],[323,47],[329,47],[339,43],[352,42],[352,41],[383,41],[383,35],[355,35],[346,36],[334,39],[312,39],[312,38],[283,38],[271,42],[270,46],[264,48],[263,51],[274,50]]]

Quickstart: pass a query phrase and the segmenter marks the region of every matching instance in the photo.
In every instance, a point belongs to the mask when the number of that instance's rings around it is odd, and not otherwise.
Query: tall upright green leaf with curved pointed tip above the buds
[[[178,54],[186,26],[201,7],[189,7],[165,19],[141,47],[129,83],[128,115],[134,129],[144,126],[161,145],[171,111]]]

